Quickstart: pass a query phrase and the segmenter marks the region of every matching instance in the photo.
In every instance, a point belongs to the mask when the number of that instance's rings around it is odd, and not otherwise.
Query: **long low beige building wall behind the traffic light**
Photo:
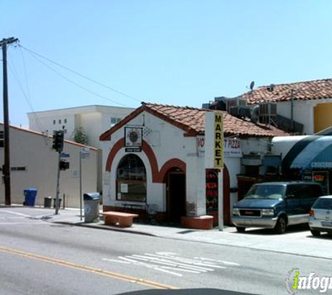
[[[0,163],[3,164],[3,124],[0,124]],[[80,150],[86,145],[64,141],[64,156],[70,168],[60,171],[60,194],[65,206],[80,206]],[[89,157],[82,159],[82,193],[96,192],[98,150],[89,147]],[[11,203],[22,204],[24,189],[38,190],[36,205],[56,195],[58,153],[52,150],[52,137],[36,131],[10,127]],[[0,203],[5,203],[4,185],[0,185]]]

